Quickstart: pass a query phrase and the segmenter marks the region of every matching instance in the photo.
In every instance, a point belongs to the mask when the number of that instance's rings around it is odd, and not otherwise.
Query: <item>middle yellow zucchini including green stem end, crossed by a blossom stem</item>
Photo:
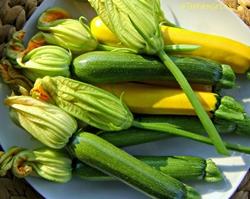
[[[150,115],[196,115],[194,107],[181,89],[141,83],[100,84],[100,88],[116,95],[133,113]],[[196,91],[203,108],[216,118],[243,120],[244,107],[234,98],[216,93]]]

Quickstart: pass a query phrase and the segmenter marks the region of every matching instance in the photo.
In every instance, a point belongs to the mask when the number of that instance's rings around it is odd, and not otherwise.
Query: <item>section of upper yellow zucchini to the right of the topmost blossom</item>
[[[230,65],[236,73],[245,73],[250,68],[250,47],[234,40],[173,28],[161,27],[166,44],[196,44],[201,48],[186,54],[201,56]]]

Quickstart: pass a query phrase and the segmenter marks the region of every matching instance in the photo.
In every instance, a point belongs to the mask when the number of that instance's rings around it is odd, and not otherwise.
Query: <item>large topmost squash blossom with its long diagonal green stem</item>
[[[209,134],[218,152],[229,155],[214,124],[203,109],[190,84],[164,52],[164,41],[160,31],[162,13],[159,0],[88,0],[106,26],[121,43],[138,53],[157,55],[173,74],[193,105],[197,116]]]

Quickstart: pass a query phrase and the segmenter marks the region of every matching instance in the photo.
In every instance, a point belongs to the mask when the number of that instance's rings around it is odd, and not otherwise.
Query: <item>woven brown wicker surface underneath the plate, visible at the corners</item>
[[[11,35],[23,27],[26,20],[43,0],[0,0],[0,58],[5,43]],[[224,0],[250,25],[250,0]],[[1,147],[0,147],[1,150]],[[42,199],[25,180],[11,174],[0,178],[0,199]],[[250,173],[245,177],[232,199],[250,198]]]

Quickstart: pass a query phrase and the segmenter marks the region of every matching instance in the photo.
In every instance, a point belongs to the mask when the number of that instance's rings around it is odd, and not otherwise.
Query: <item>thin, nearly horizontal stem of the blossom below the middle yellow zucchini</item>
[[[152,130],[152,131],[155,131],[155,133],[165,132],[165,133],[169,133],[169,134],[173,134],[173,135],[177,135],[177,136],[190,138],[192,140],[203,142],[205,144],[213,145],[213,142],[208,137],[198,135],[198,134],[195,134],[195,133],[192,133],[189,131],[185,131],[182,129],[178,129],[178,128],[173,127],[173,126],[168,125],[168,124],[146,123],[146,122],[138,122],[138,121],[134,120],[133,126],[140,128],[140,129]],[[223,142],[223,146],[227,147],[228,149],[234,150],[234,151],[250,154],[250,147],[247,147],[247,146],[243,146],[240,144],[231,144],[228,142]]]

